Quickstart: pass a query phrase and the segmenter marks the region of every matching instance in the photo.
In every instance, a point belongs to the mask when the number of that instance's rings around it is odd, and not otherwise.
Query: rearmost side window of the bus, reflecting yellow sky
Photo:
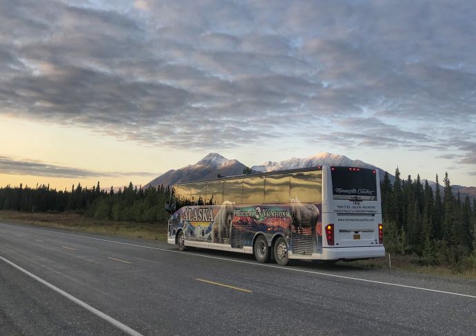
[[[290,174],[290,198],[305,203],[322,201],[322,171],[293,172]]]

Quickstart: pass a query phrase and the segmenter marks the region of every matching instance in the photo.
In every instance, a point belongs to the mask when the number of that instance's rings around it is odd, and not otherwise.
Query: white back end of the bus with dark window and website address
[[[377,170],[330,167],[326,230],[333,230],[334,247],[364,247],[379,244],[381,224],[380,186]],[[329,228],[328,224],[333,224]],[[324,239],[326,240],[326,239]]]

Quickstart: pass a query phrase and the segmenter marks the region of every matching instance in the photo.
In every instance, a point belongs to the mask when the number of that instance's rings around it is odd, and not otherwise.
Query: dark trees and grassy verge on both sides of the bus
[[[381,182],[384,245],[392,268],[476,276],[476,200],[453,196],[448,174],[435,192],[419,176]],[[99,186],[56,190],[49,186],[0,188],[0,219],[93,233],[166,241],[170,189],[119,190]],[[388,268],[386,258],[357,264]]]

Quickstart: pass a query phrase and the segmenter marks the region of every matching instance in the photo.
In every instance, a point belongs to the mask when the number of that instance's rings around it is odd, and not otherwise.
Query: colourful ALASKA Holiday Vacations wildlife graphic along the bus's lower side
[[[169,237],[183,230],[185,239],[232,246],[232,233],[244,233],[244,246],[251,246],[257,233],[268,241],[282,235],[292,247],[291,235],[310,235],[319,251],[322,242],[321,204],[259,204],[237,208],[230,201],[221,206],[184,206],[170,217]]]

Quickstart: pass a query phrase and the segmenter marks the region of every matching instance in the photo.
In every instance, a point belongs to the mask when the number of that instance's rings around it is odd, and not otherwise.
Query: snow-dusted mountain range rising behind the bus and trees
[[[305,168],[305,167],[315,167],[315,166],[351,166],[359,168],[371,168],[379,170],[380,179],[384,178],[385,171],[381,168],[367,164],[361,160],[349,159],[345,155],[331,154],[328,152],[321,152],[317,155],[313,155],[305,158],[292,157],[284,161],[273,162],[267,161],[264,164],[250,167],[253,172],[270,172],[273,170],[288,170],[295,168]],[[241,175],[243,169],[246,168],[244,164],[241,164],[236,159],[226,159],[218,153],[210,153],[196,164],[191,164],[177,170],[168,170],[168,172],[160,175],[159,177],[153,179],[148,184],[143,186],[143,188],[148,188],[153,186],[172,186],[177,182],[185,181],[199,181],[202,179],[213,179],[218,175],[225,177],[231,175]],[[388,174],[390,177],[390,182],[393,183],[395,177],[391,174]],[[405,179],[405,177],[401,177]],[[423,182],[424,180],[422,180]],[[435,190],[435,182],[428,181],[428,184]],[[442,188],[442,186],[440,186]],[[470,197],[470,200],[476,197],[476,187],[466,187],[453,185],[453,194],[459,195],[463,200],[466,195]],[[443,192],[443,190],[441,190]]]

